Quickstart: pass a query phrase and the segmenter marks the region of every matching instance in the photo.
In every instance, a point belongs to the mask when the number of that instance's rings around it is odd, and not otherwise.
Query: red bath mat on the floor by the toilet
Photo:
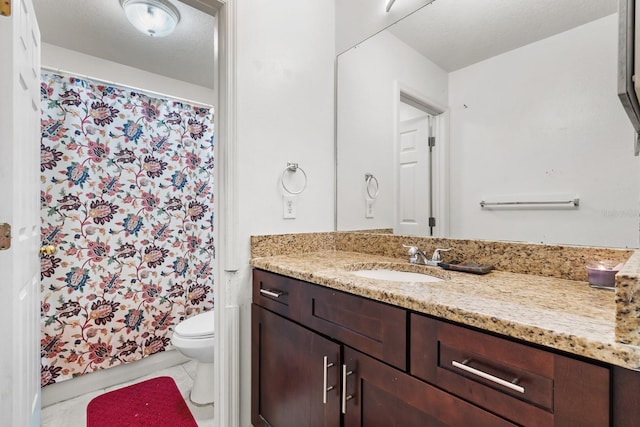
[[[87,405],[87,427],[198,427],[171,377],[113,390]]]

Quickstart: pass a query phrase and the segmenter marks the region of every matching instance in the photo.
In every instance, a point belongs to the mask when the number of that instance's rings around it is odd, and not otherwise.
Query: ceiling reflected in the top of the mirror
[[[617,0],[436,0],[389,31],[454,71],[617,10]]]

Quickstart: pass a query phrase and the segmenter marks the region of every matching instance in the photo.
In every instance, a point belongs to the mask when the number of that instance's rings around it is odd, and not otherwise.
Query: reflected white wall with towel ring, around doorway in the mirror
[[[388,31],[338,57],[338,230],[393,228],[399,85],[448,104],[448,74]],[[364,174],[380,184],[365,218]]]

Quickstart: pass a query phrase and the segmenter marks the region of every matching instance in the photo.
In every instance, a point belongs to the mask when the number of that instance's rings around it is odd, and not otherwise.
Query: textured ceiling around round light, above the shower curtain
[[[215,20],[210,14],[174,0],[180,23],[173,34],[153,38],[129,24],[119,0],[33,3],[44,43],[213,88]]]

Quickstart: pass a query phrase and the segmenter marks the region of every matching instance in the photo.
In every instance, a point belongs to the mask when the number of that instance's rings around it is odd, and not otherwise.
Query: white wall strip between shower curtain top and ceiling
[[[138,68],[47,43],[42,44],[42,66],[83,74],[203,104],[212,105],[216,99],[214,91],[209,88],[149,73]]]

